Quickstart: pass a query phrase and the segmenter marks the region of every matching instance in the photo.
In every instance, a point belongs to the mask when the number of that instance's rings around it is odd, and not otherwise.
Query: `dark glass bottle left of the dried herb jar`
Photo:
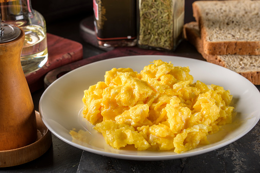
[[[136,7],[136,0],[93,0],[99,47],[136,45]]]

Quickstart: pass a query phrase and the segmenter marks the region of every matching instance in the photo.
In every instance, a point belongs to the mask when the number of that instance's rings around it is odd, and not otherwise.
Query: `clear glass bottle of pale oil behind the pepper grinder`
[[[3,23],[14,24],[25,31],[21,66],[25,74],[41,68],[48,60],[46,22],[33,10],[31,0],[0,0]]]

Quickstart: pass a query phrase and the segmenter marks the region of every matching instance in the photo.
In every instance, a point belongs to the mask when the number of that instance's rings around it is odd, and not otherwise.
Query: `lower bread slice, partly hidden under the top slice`
[[[184,37],[193,44],[208,62],[221,65],[247,78],[255,85],[260,85],[259,55],[208,55],[204,53],[199,24],[190,22],[184,25]]]

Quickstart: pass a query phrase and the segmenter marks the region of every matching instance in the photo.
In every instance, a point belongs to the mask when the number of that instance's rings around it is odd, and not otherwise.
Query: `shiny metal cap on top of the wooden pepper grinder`
[[[0,22],[0,43],[14,40],[21,34],[21,30],[13,24]]]

